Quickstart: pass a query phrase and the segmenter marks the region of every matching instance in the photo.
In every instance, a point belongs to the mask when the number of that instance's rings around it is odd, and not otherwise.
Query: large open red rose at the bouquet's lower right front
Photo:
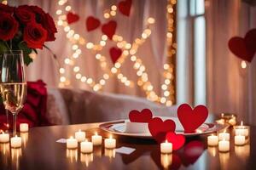
[[[24,28],[24,41],[29,48],[43,48],[47,38],[47,31],[36,22],[28,23]]]

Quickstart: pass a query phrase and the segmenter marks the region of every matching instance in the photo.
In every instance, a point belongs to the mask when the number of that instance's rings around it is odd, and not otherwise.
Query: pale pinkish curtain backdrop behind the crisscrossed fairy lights
[[[110,8],[111,5],[117,4],[120,1],[115,0],[68,0],[72,7],[72,11],[79,14],[79,22],[71,25],[74,31],[82,35],[88,42],[99,42],[102,37],[101,29],[88,32],[85,28],[85,19],[93,15],[100,19],[104,24],[108,20],[103,18],[103,12],[105,9]],[[58,1],[45,1],[45,0],[9,0],[10,5],[31,4],[38,5],[44,8],[46,12],[49,12],[55,20],[57,20],[56,10],[59,8]],[[146,22],[148,17],[155,19],[155,24],[152,26],[152,34],[146,42],[138,49],[137,56],[143,60],[143,64],[146,65],[146,71],[148,71],[148,79],[154,85],[154,90],[157,94],[161,93],[160,83],[162,82],[161,72],[162,66],[166,57],[166,5],[167,1],[154,1],[154,0],[134,0],[132,1],[132,9],[130,17],[126,17],[123,14],[118,14],[113,20],[118,23],[116,33],[124,37],[127,42],[134,42],[137,37],[141,37],[143,29],[146,28]],[[64,10],[65,11],[65,10]],[[69,88],[82,88],[89,89],[89,87],[81,81],[75,78],[73,70],[68,69],[67,65],[64,65],[63,59],[67,56],[71,56],[72,48],[71,43],[68,42],[66,32],[63,31],[61,26],[57,27],[58,33],[56,35],[55,42],[47,43],[47,46],[53,50],[57,55],[58,61],[65,69],[67,69],[67,77],[70,78],[71,84]],[[102,54],[108,59],[108,65],[113,66],[109,57],[109,48],[115,46],[113,42],[107,42],[107,45]],[[102,77],[104,71],[102,71],[98,60],[95,59],[95,54],[91,53],[88,49],[80,47],[82,49],[82,55],[79,57],[77,63],[81,69],[82,74],[86,77],[92,77],[96,81]],[[107,84],[103,88],[105,92],[119,93],[119,94],[132,94],[137,96],[145,96],[145,93],[137,87],[137,75],[134,71],[133,63],[127,58],[125,64],[122,65],[122,73],[130,80],[135,82],[134,88],[125,87],[125,85],[117,80],[115,76],[108,80]],[[34,60],[32,65],[28,67],[28,80],[34,81],[41,78],[48,84],[48,86],[57,87],[59,83],[59,71],[54,59],[50,57],[49,51],[44,48],[40,51],[37,59]]]

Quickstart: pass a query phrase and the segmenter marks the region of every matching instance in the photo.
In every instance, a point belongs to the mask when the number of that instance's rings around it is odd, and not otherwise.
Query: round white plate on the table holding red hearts
[[[161,117],[162,118],[162,117]],[[207,134],[207,133],[215,133],[218,132],[224,128],[227,128],[227,125],[220,125],[217,123],[204,123],[201,125],[201,127],[198,128],[198,131],[196,133],[184,133],[183,127],[180,126],[180,123],[177,122],[177,118],[169,117],[169,119],[172,119],[174,122],[176,122],[176,133],[181,133],[184,136],[198,136],[201,134]],[[162,118],[163,120],[166,120],[167,117]],[[131,136],[131,137],[137,137],[137,138],[143,138],[143,139],[152,139],[152,136],[150,133],[126,133],[125,132],[125,121],[126,120],[120,120],[120,121],[113,121],[113,122],[105,122],[100,125],[100,128],[103,131],[106,131],[108,133],[123,135],[123,136]]]

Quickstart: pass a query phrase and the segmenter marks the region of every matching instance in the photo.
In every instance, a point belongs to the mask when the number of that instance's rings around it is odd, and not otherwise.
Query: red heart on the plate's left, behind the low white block
[[[152,112],[149,109],[143,109],[141,112],[133,110],[129,113],[130,122],[149,122],[152,116]]]

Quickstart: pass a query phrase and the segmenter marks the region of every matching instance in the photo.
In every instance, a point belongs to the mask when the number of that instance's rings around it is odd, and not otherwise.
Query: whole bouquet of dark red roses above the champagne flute
[[[38,6],[10,7],[0,3],[0,54],[6,50],[22,50],[26,65],[29,56],[55,40],[57,29],[52,17]]]

